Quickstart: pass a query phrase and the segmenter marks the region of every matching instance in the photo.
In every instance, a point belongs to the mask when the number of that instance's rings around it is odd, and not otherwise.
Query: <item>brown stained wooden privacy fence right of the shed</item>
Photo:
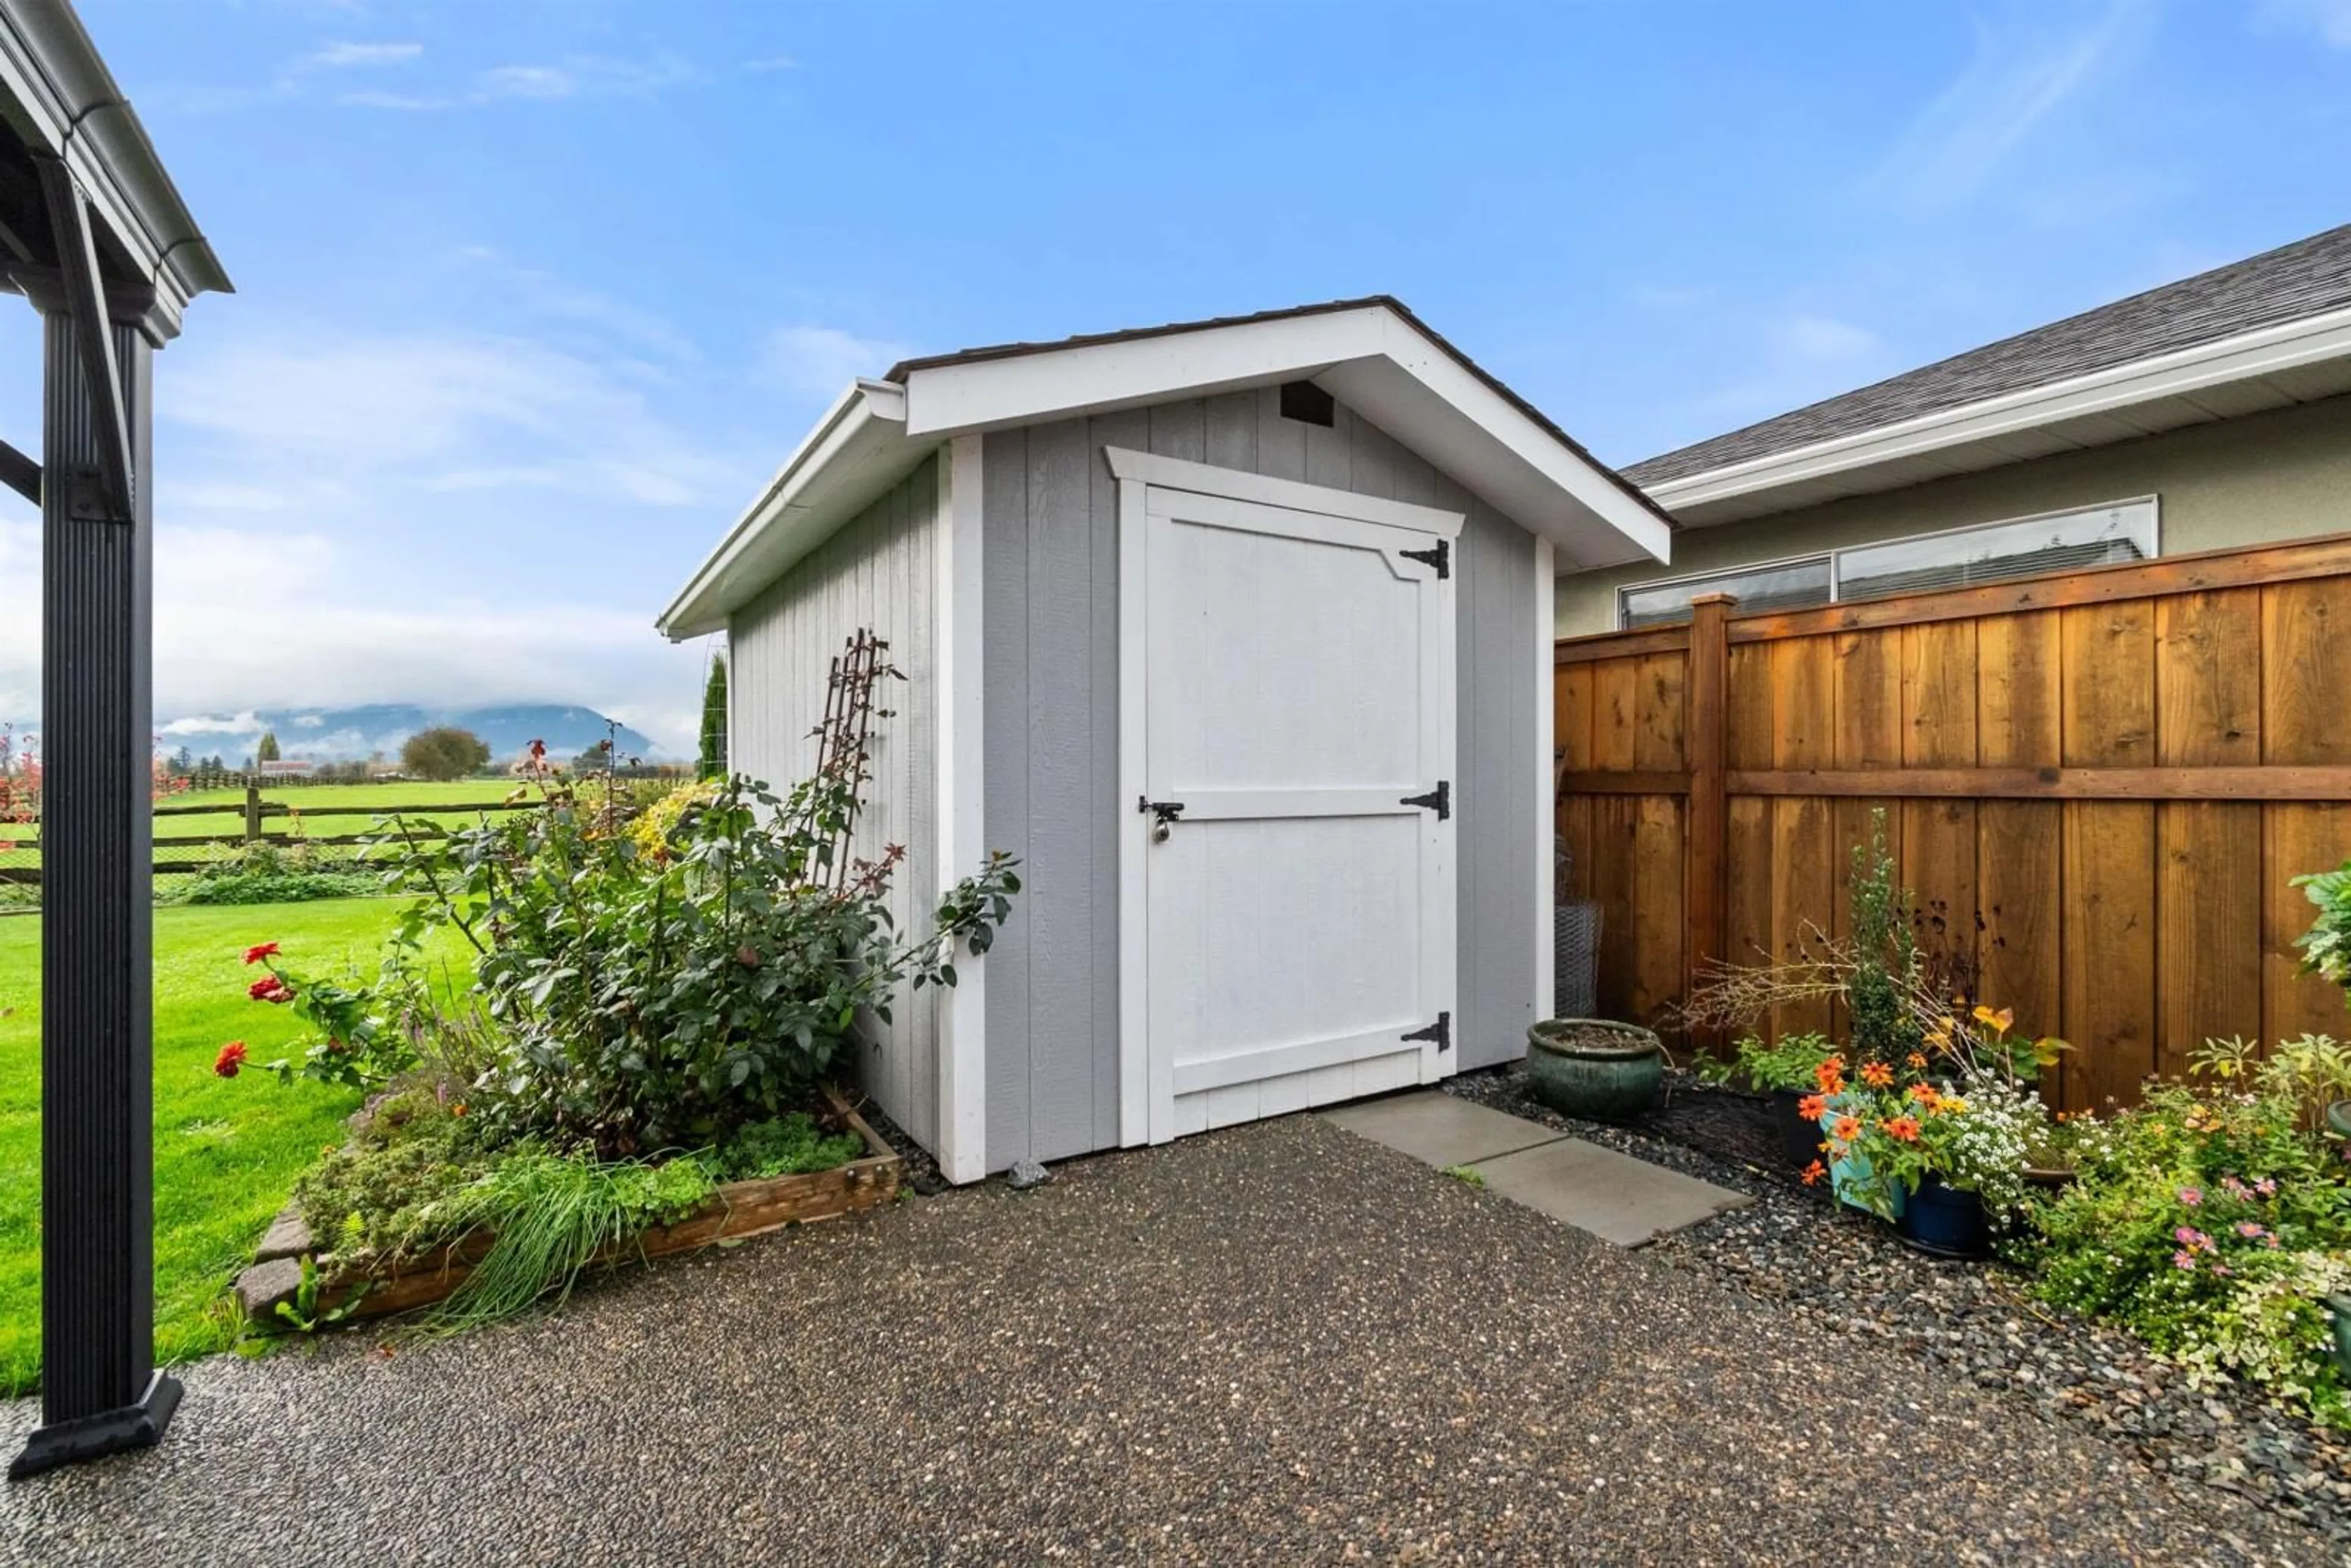
[[[2288,882],[2351,853],[2351,536],[1782,614],[1714,595],[1559,642],[1554,717],[1608,1016],[1669,1027],[1704,959],[1843,936],[1883,806],[1980,994],[2074,1044],[2064,1105],[2208,1037],[2351,1032],[2297,973]]]

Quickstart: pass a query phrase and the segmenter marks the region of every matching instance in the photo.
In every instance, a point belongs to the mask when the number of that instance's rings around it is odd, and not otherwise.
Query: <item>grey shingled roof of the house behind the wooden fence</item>
[[[1665,484],[2351,308],[2351,223],[1625,468]]]

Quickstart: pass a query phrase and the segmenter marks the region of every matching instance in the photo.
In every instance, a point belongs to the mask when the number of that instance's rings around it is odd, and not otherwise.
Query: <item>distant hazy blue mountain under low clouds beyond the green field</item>
[[[409,703],[371,703],[367,708],[266,708],[230,717],[193,715],[155,729],[162,752],[188,748],[195,757],[226,757],[242,764],[261,743],[261,731],[277,733],[277,750],[289,762],[353,762],[371,755],[397,757],[400,743],[418,729],[456,724],[482,736],[498,762],[515,757],[531,741],[548,743],[548,757],[569,762],[607,736],[607,719],[595,708],[557,703],[503,703],[496,708],[416,708]],[[614,731],[623,757],[656,757],[642,733],[623,724]]]

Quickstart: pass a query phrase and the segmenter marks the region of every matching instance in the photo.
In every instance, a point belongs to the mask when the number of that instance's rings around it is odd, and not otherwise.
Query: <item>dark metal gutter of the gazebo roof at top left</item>
[[[0,118],[28,148],[66,162],[103,228],[155,287],[165,334],[179,331],[197,294],[235,292],[71,5],[0,5]]]

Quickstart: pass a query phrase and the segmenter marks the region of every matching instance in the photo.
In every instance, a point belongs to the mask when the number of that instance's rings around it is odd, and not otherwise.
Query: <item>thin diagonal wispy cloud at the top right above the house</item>
[[[1864,190],[1909,214],[1947,212],[1977,195],[2059,106],[2130,45],[2154,9],[2109,0],[2085,26],[1977,28],[1975,59],[1911,120]]]

